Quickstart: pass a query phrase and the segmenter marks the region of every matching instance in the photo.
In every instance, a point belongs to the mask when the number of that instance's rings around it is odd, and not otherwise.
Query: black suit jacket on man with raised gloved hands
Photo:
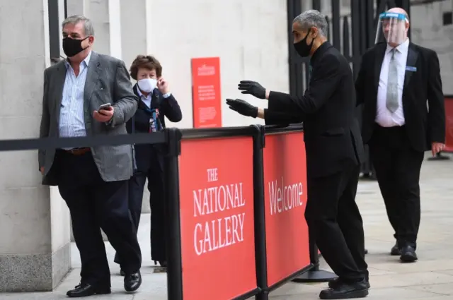
[[[361,163],[364,152],[348,61],[325,42],[310,63],[313,71],[302,97],[270,92],[265,123],[304,121],[307,176],[319,177]]]

